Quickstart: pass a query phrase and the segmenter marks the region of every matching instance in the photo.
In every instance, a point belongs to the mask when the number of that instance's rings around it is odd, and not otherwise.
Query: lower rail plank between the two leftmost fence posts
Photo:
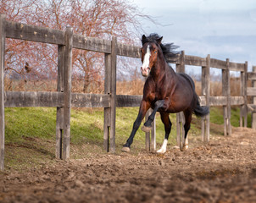
[[[64,93],[55,91],[6,91],[5,107],[63,107]]]

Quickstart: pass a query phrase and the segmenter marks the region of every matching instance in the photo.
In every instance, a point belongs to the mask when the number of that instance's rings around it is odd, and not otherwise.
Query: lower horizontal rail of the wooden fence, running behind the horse
[[[251,88],[250,88],[251,89]],[[249,90],[250,90],[249,89]],[[256,89],[255,89],[256,90]],[[256,91],[255,94],[256,95]],[[253,94],[248,94],[253,96]],[[205,106],[205,96],[199,96],[200,104]],[[117,95],[116,107],[139,107],[142,96]],[[231,105],[244,103],[243,96],[231,96]],[[226,96],[210,96],[209,106],[227,105]],[[64,107],[64,92],[58,91],[5,91],[5,107]],[[110,96],[107,94],[71,94],[71,107],[110,107]]]

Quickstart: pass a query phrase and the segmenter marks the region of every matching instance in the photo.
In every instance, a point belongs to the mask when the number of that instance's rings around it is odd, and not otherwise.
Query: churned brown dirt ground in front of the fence
[[[0,173],[0,202],[256,202],[256,131]],[[131,149],[132,150],[132,149]]]

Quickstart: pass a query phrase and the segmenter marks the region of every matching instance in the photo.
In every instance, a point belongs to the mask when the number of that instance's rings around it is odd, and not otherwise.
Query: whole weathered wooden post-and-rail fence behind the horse
[[[35,25],[25,25],[8,21],[5,15],[0,16],[0,170],[4,167],[4,107],[57,107],[56,117],[56,157],[64,160],[70,157],[70,108],[103,107],[104,108],[104,148],[115,151],[115,109],[116,107],[138,107],[142,96],[116,95],[116,58],[117,55],[140,58],[140,47],[131,47],[117,42],[79,36],[73,29],[53,30]],[[25,41],[38,41],[58,45],[58,87],[56,92],[4,91],[3,70],[5,38]],[[71,59],[72,48],[103,52],[105,56],[104,94],[79,94],[71,92]],[[224,132],[231,134],[231,105],[239,105],[244,125],[247,123],[247,75],[251,80],[256,74],[247,74],[248,63],[231,63],[228,59],[199,58],[181,52],[176,61],[176,71],[185,72],[185,65],[202,67],[201,105],[223,106]],[[222,96],[209,95],[209,69],[222,69]],[[241,96],[231,96],[230,71],[241,72]],[[248,89],[248,95],[256,96],[254,89]],[[256,106],[250,105],[256,110]],[[148,115],[148,113],[147,113]],[[177,113],[177,126],[184,123],[182,113]],[[182,128],[177,128],[177,142],[181,142]],[[129,135],[129,134],[127,134]],[[209,141],[209,116],[202,119],[202,139]],[[150,134],[146,134],[147,150],[155,150],[155,125]]]

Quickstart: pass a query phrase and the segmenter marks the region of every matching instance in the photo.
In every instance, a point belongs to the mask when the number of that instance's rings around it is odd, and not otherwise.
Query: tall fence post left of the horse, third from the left
[[[116,113],[116,37],[111,41],[111,95],[110,95],[110,151],[115,151],[115,113]]]

